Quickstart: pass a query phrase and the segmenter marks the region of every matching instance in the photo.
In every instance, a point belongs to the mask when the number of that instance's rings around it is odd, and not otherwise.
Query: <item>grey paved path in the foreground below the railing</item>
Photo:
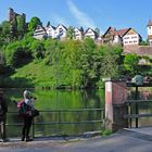
[[[11,139],[0,142],[0,152],[152,152],[152,127],[123,129],[109,137]]]

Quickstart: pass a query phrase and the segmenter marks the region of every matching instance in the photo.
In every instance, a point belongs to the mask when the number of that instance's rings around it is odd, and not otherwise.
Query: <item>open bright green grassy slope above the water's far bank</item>
[[[26,86],[27,84],[33,84],[34,86],[52,86],[53,84],[50,84],[52,81],[52,68],[43,64],[43,62],[30,62],[16,68],[11,78],[15,79],[18,86]]]

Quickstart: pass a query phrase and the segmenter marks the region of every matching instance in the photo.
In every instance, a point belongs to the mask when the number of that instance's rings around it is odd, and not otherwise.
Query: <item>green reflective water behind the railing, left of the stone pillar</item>
[[[13,100],[23,99],[24,89],[7,89],[5,97],[9,103],[9,112],[17,112]],[[35,123],[45,123],[46,125],[35,125],[35,136],[66,136],[81,135],[86,131],[101,129],[101,123],[83,123],[87,121],[100,121],[102,114],[100,111],[76,111],[76,112],[58,112],[58,110],[78,110],[78,109],[104,109],[104,90],[30,90],[37,98],[35,107],[41,112],[35,118]],[[53,111],[53,112],[48,112]],[[8,113],[8,124],[21,123],[18,114]],[[56,124],[59,122],[60,124]],[[66,122],[66,124],[62,124]],[[75,124],[69,124],[69,123]],[[54,123],[51,124],[50,123]],[[7,127],[10,137],[20,137],[22,126],[9,125]],[[33,130],[33,128],[31,128]]]

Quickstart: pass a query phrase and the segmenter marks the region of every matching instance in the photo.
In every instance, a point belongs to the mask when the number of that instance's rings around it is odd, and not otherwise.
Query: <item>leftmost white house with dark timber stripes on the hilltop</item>
[[[34,38],[42,39],[45,37],[48,37],[46,28],[41,25],[38,25],[36,30],[34,31]]]

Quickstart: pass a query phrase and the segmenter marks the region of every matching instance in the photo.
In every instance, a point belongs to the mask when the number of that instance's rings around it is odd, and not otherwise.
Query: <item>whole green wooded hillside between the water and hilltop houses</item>
[[[33,37],[38,17],[25,23],[22,17],[0,24],[0,87],[67,87],[100,88],[102,78],[121,78],[145,71],[138,66],[136,54],[123,56],[121,46],[97,46],[91,38],[73,39],[72,27],[67,40],[37,40]]]

